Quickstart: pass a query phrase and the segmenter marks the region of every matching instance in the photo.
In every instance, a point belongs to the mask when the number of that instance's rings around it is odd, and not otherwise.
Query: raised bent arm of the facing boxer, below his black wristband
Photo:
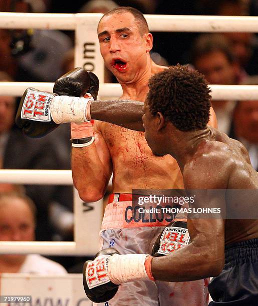
[[[101,124],[95,122],[95,140],[90,146],[72,149],[74,185],[86,202],[103,197],[113,168],[109,149],[101,133]]]

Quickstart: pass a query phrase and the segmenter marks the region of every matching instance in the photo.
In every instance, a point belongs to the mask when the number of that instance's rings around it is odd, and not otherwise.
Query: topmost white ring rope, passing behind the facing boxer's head
[[[76,29],[77,18],[98,22],[101,13],[14,13],[0,12],[2,28]],[[257,32],[258,17],[203,15],[144,15],[151,31],[174,32]],[[81,22],[81,21],[80,21]]]

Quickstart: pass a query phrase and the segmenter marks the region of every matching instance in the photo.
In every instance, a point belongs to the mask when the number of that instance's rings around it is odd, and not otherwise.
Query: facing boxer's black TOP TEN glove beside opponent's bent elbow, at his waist
[[[151,255],[154,257],[171,254],[171,252],[186,246],[190,237],[187,229],[187,219],[176,217],[160,233],[156,239]]]

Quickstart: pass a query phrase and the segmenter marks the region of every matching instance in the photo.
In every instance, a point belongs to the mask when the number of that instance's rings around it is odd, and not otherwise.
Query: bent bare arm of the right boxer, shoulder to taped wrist
[[[223,164],[222,164],[223,165]],[[194,207],[221,207],[225,209],[224,191],[210,190],[226,188],[227,175],[218,175],[214,159],[184,169],[186,189],[196,190]],[[193,170],[194,169],[194,170]],[[217,169],[219,170],[219,169]],[[170,255],[153,258],[151,270],[155,279],[166,281],[189,281],[218,275],[224,264],[224,220],[219,214],[213,218],[188,216],[188,230],[191,242]]]

